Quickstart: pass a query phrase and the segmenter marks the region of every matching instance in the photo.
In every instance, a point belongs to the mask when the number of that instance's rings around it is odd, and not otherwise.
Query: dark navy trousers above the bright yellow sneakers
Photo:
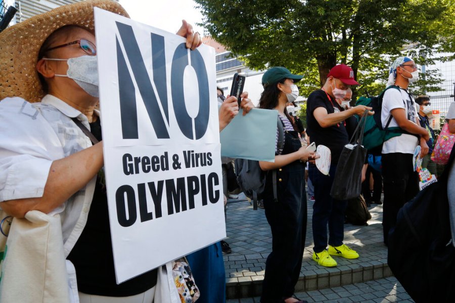
[[[329,175],[322,174],[315,165],[309,166],[308,174],[314,184],[313,240],[315,252],[326,249],[327,244],[340,246],[344,239],[344,212],[347,201],[330,196],[336,165],[331,165]],[[329,237],[327,237],[329,226]]]

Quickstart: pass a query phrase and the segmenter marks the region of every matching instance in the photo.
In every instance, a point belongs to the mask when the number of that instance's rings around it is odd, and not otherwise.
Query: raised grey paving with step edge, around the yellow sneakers
[[[344,243],[357,250],[359,259],[337,258],[338,266],[326,268],[312,261],[312,202],[308,201],[308,224],[301,276],[296,292],[340,287],[392,276],[387,266],[387,247],[382,236],[382,205],[370,207],[368,226],[345,225]],[[253,211],[243,194],[228,200],[225,239],[232,254],[224,255],[228,299],[260,294],[265,260],[271,250],[270,227],[264,210]]]

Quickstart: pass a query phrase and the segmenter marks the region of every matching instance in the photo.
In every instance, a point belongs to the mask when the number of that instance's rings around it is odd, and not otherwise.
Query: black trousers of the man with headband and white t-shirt
[[[413,155],[383,154],[382,178],[384,182],[382,225],[384,243],[387,245],[389,230],[396,224],[398,211],[419,192],[419,175],[413,169]]]

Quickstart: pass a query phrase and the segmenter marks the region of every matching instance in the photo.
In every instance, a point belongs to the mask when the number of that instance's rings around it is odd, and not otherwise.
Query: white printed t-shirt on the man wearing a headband
[[[382,127],[386,126],[390,117],[390,111],[394,109],[404,109],[407,120],[417,124],[416,103],[414,102],[414,98],[410,96],[405,89],[400,88],[398,90],[395,88],[389,88],[384,93],[381,112]],[[392,117],[389,127],[397,126],[398,124],[396,123],[395,118]],[[414,154],[414,150],[416,149],[418,143],[419,140],[416,136],[401,134],[400,136],[396,136],[385,141],[382,146],[382,153]]]

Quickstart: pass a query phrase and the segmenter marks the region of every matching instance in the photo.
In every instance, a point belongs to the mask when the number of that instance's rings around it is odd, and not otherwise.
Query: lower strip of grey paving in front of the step
[[[362,283],[349,284],[334,288],[311,290],[296,293],[300,299],[309,303],[412,303],[413,299],[406,293],[401,284],[394,278],[384,278]],[[229,299],[226,303],[259,303],[259,297]]]

